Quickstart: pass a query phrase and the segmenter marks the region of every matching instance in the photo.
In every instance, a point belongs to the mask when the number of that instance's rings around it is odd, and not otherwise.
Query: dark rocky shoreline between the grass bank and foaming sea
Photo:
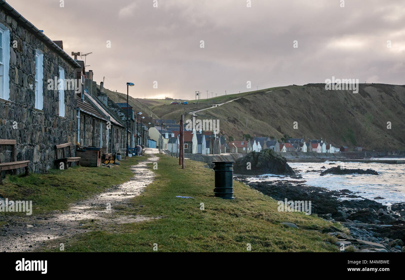
[[[339,175],[337,175],[339,176]],[[276,177],[276,176],[275,176]],[[405,203],[387,207],[363,198],[350,190],[330,191],[323,187],[305,185],[305,180],[256,181],[249,175],[235,175],[241,181],[275,200],[311,200],[311,212],[331,222],[340,222],[343,233],[331,226],[322,232],[337,238],[339,248],[352,248],[357,252],[405,252]],[[261,179],[266,178],[260,177]],[[302,176],[290,176],[302,179]],[[377,199],[377,198],[375,198]],[[343,245],[342,245],[343,244]]]

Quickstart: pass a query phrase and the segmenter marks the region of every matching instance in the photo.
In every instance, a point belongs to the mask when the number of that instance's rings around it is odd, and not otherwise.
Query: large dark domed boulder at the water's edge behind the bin
[[[295,175],[295,172],[287,164],[286,158],[277,155],[277,153],[270,149],[265,149],[260,152],[251,152],[237,159],[234,164],[234,173],[245,175]]]

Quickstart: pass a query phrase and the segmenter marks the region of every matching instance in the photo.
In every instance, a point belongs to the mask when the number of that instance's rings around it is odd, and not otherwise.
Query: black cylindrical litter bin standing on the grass
[[[233,164],[234,162],[213,162],[215,164],[214,195],[224,199],[233,197]]]

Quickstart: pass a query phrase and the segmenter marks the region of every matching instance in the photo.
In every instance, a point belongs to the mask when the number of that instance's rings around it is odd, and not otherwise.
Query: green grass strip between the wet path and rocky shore
[[[248,243],[257,252],[337,252],[336,246],[324,242],[330,237],[318,231],[332,223],[313,215],[278,212],[277,201],[236,181],[236,199],[215,198],[214,172],[203,166],[186,160],[182,170],[178,159],[161,155],[153,183],[119,212],[160,218],[64,239],[65,252],[153,252],[155,243],[159,252],[246,252]],[[200,203],[205,210],[200,210]],[[299,229],[281,222],[292,222]],[[51,242],[44,250],[60,252],[59,241]]]

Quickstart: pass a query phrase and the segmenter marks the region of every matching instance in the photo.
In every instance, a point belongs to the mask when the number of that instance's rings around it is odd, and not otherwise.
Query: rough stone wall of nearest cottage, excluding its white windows
[[[75,67],[3,8],[0,8],[0,22],[10,29],[11,41],[10,97],[0,99],[0,138],[17,140],[17,160],[30,160],[31,172],[44,172],[53,167],[55,144],[75,144],[77,129],[74,89],[65,90],[65,116],[61,117],[58,90],[48,90],[47,81],[59,78],[59,66],[64,68],[65,79],[76,78]],[[36,49],[44,55],[43,110],[34,108]],[[75,155],[75,146],[70,149]],[[10,146],[0,147],[1,162],[11,161],[10,150]]]

